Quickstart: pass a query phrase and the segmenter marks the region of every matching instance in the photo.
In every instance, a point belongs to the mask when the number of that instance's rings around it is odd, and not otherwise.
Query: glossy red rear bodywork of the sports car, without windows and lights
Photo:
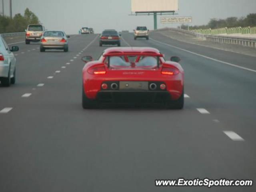
[[[176,62],[166,62],[164,58],[160,58],[161,65],[159,68],[111,68],[105,64],[105,60],[112,52],[114,52],[114,54],[116,54],[116,52],[120,52],[120,54],[142,54],[143,52],[160,54],[160,52],[154,48],[108,48],[104,51],[102,57],[100,57],[98,61],[88,62],[83,68],[84,93],[89,99],[95,100],[98,98],[99,92],[102,93],[101,86],[103,82],[164,82],[164,84],[166,84],[165,91],[168,92],[169,99],[178,100],[182,95],[184,88],[184,70],[180,64]],[[89,69],[97,66],[104,66],[106,74],[95,75],[88,72]],[[166,66],[178,69],[179,73],[173,76],[163,75],[161,70]],[[114,93],[116,91],[112,90],[112,92]],[[146,91],[146,93],[149,92],[152,93],[151,90]]]

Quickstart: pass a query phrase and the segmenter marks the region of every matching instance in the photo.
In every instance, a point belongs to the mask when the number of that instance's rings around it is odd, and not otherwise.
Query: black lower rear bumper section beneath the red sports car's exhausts
[[[168,91],[100,91],[96,100],[116,104],[161,104],[170,101]]]

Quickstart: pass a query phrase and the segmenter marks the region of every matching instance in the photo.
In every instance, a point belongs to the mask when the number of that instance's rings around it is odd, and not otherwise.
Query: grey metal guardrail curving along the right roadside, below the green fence
[[[218,42],[218,43],[224,43],[224,44],[237,44],[237,45],[242,45],[250,48],[256,48],[256,38],[205,35],[205,34],[200,34],[200,33],[178,29],[178,28],[163,28],[155,31],[164,31],[164,30],[177,31],[183,34],[190,34],[195,36],[196,38],[202,38],[212,42]]]

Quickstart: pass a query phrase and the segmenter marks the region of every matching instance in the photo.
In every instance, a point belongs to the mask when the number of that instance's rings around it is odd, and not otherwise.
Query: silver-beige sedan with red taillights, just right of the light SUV
[[[46,31],[41,38],[40,52],[46,49],[63,49],[68,52],[68,38],[70,36],[63,31]]]

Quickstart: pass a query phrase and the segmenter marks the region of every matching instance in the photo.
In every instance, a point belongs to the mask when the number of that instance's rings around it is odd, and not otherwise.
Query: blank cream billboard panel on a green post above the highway
[[[178,11],[178,0],[132,0],[132,12]]]

